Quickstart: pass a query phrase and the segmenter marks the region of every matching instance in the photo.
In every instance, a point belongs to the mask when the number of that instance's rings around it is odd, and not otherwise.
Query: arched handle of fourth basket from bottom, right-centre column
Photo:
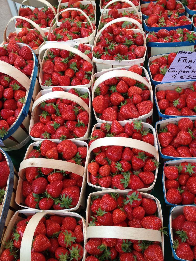
[[[110,2],[109,2],[110,3]],[[110,21],[109,23],[107,23],[106,25],[104,25],[101,30],[99,32],[97,32],[97,35],[95,37],[95,42],[94,42],[94,46],[96,46],[96,43],[97,43],[97,40],[99,39],[99,37],[101,36],[101,33],[103,32],[104,29],[106,29],[109,25],[112,25],[113,23],[117,23],[117,22],[131,22],[133,23],[134,25],[136,25],[141,33],[142,33],[142,36],[143,36],[143,40],[144,40],[144,43],[146,41],[145,39],[145,33],[142,29],[142,26],[140,25],[139,22],[137,22],[135,19],[132,19],[132,18],[129,18],[129,17],[120,17],[120,18],[117,18],[117,19],[114,19],[112,21]]]

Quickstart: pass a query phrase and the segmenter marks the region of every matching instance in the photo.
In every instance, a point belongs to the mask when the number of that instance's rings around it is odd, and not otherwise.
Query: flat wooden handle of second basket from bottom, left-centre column
[[[49,169],[60,169],[64,171],[69,171],[84,176],[84,167],[72,162],[60,161],[58,159],[45,159],[45,158],[29,158],[25,159],[20,163],[19,168],[19,176],[23,178],[21,175],[21,170],[29,168],[29,167],[37,167],[37,168],[49,168]]]

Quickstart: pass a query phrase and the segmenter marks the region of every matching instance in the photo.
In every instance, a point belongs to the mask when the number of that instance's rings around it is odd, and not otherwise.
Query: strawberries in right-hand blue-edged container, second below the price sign
[[[196,157],[196,122],[181,118],[178,125],[168,123],[159,130],[158,139],[162,146],[161,153],[170,157]]]

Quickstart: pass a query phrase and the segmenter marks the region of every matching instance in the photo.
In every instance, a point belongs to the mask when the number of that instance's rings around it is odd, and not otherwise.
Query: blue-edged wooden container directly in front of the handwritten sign
[[[156,103],[156,106],[157,106],[159,117],[162,117],[162,118],[172,118],[172,117],[182,118],[183,116],[177,116],[177,115],[172,116],[172,115],[167,115],[167,114],[161,113],[160,109],[159,109],[159,105],[158,105],[158,100],[157,100],[157,92],[158,91],[166,91],[166,90],[175,90],[175,88],[177,86],[180,86],[183,89],[190,88],[191,85],[193,84],[193,82],[195,82],[195,81],[167,82],[167,83],[160,83],[160,84],[157,84],[155,86],[154,100],[155,100],[155,103]],[[196,116],[194,116],[194,117],[196,118]]]

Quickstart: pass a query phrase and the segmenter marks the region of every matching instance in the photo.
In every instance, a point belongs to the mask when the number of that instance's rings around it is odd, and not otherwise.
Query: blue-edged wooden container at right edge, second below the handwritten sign
[[[192,116],[192,117],[186,116],[186,117],[191,119],[192,121],[196,120],[196,116]],[[160,156],[161,156],[161,158],[163,159],[164,162],[167,161],[167,160],[170,160],[170,159],[184,159],[183,157],[172,157],[172,156],[167,156],[167,155],[162,154],[162,152],[161,152],[162,147],[159,143],[159,138],[158,138],[158,134],[159,134],[160,129],[165,128],[168,123],[177,124],[178,121],[181,118],[185,118],[185,116],[166,118],[164,120],[157,121],[156,124],[155,124],[155,131],[156,131],[156,135],[157,135],[157,143],[158,143],[159,153],[160,153]],[[196,157],[191,157],[191,158],[186,158],[186,159],[196,160]]]

